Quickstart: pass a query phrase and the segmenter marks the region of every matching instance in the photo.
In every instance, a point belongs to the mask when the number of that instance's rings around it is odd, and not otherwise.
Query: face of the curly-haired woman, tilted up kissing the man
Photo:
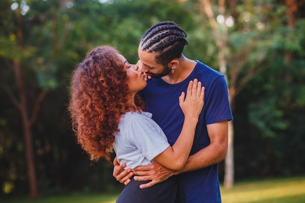
[[[124,63],[124,69],[127,72],[126,84],[131,93],[139,92],[143,90],[147,83],[145,81],[145,73],[142,73],[138,65],[129,64],[126,58],[122,55],[119,55],[120,59]]]

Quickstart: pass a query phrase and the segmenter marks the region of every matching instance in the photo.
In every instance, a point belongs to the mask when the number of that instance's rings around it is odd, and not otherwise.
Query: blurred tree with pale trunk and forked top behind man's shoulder
[[[272,40],[277,31],[285,26],[285,6],[273,1],[201,2],[202,13],[208,17],[214,33],[219,51],[219,70],[227,78],[229,102],[231,110],[234,111],[236,95],[254,75],[261,73],[272,62]],[[289,6],[295,8],[295,4]],[[273,12],[270,12],[270,9]],[[225,159],[225,188],[231,188],[234,181],[233,131],[233,123],[230,121],[229,146]]]

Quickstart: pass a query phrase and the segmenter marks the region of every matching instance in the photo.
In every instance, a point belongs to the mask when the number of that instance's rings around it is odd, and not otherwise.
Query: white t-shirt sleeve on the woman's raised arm
[[[149,161],[170,146],[162,129],[147,117],[133,117],[126,136]]]

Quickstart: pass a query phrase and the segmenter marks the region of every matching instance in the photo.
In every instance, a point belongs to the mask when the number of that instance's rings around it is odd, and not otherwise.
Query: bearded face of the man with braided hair
[[[138,55],[140,60],[138,61],[137,65],[139,66],[141,72],[144,72],[153,78],[163,77],[172,71],[170,67],[156,63],[155,54],[142,51],[140,47],[138,48]]]

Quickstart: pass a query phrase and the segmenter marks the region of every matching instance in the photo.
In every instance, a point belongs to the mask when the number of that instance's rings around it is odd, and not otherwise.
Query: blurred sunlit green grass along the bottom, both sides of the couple
[[[305,203],[305,177],[236,183],[233,189],[221,186],[223,203]],[[1,203],[115,203],[117,195],[71,194],[66,196],[12,198]]]

